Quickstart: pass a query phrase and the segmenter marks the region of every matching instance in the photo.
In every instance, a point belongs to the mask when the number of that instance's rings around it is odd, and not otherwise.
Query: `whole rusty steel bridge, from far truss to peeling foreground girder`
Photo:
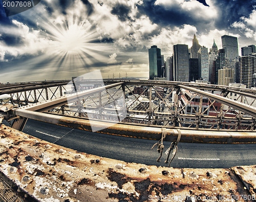
[[[224,201],[225,197],[255,199],[256,170],[251,162],[255,162],[256,90],[201,83],[73,79],[3,84],[0,95],[1,190],[12,193],[8,199],[7,192],[1,192],[6,201],[157,201],[165,196],[166,201],[193,201],[200,194],[202,201],[210,201],[207,197],[224,197]],[[106,134],[108,139],[114,135],[115,141],[121,136],[150,141],[157,154],[157,158],[152,156],[156,164],[125,162],[113,154],[105,158],[83,153],[75,146],[60,146],[57,140],[62,136],[58,131],[52,142],[43,140],[48,132],[33,137],[25,133],[30,120],[39,121],[38,127],[51,123]],[[173,168],[172,161],[179,155],[182,143],[209,148],[233,145],[232,152],[254,157],[249,163],[238,159],[238,164],[230,168]],[[252,149],[236,150],[239,145]],[[206,162],[219,159],[205,156],[203,153],[200,158],[189,158]],[[165,166],[158,167],[160,161]],[[58,187],[61,183],[64,186]],[[179,200],[180,196],[184,196],[183,200]]]

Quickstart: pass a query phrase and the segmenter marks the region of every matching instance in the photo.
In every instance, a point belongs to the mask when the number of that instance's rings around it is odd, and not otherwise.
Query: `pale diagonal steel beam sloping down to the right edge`
[[[183,86],[183,85],[178,85],[178,86],[180,88],[183,88],[183,89],[186,89],[186,90],[198,93],[198,94],[203,95],[203,96],[206,96],[206,97],[208,97],[210,99],[217,100],[219,103],[223,103],[225,105],[228,105],[230,107],[238,109],[238,110],[240,110],[242,112],[245,112],[245,113],[247,113],[247,114],[249,114],[249,115],[251,115],[253,117],[256,117],[256,108],[252,107],[250,105],[246,105],[244,103],[240,103],[238,101],[235,101],[235,100],[232,100],[232,99],[220,96],[220,95],[212,94],[212,93],[205,92],[203,90],[199,90],[199,89],[195,89],[195,88],[191,88],[191,87],[188,87],[188,86]]]

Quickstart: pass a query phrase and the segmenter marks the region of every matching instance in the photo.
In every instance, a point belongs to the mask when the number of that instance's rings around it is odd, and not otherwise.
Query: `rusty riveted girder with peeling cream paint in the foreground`
[[[39,201],[253,201],[255,197],[255,184],[247,190],[234,168],[126,163],[42,141],[4,124],[0,137],[0,171]],[[255,166],[241,167],[244,179],[255,179],[250,171]]]

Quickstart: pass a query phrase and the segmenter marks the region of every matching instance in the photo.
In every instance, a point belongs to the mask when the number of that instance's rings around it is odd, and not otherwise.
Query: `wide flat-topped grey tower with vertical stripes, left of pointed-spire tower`
[[[174,45],[174,81],[189,82],[188,45]]]

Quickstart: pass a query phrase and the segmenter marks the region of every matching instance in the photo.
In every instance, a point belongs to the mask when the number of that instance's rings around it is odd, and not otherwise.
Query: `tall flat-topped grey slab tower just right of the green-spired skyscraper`
[[[238,56],[238,38],[233,36],[224,35],[221,37],[222,48],[225,49],[226,58],[233,69],[233,60],[239,59]]]

